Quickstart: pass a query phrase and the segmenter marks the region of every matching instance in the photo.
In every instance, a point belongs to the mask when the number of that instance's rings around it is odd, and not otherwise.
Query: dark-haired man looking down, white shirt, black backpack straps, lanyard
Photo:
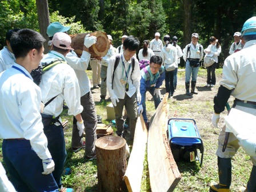
[[[114,105],[117,135],[123,136],[122,113],[123,107],[125,106],[130,118],[131,139],[134,138],[138,117],[137,102],[141,103],[141,93],[139,91],[141,73],[139,62],[133,57],[138,48],[139,40],[133,36],[127,37],[123,42],[123,53],[113,55],[107,67],[107,90],[109,91],[111,102]],[[120,59],[114,71],[116,56]]]

